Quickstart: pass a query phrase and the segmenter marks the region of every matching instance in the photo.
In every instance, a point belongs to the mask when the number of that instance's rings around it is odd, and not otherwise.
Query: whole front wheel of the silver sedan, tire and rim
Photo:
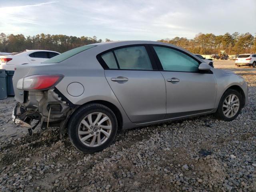
[[[234,120],[241,111],[242,96],[233,89],[226,90],[220,99],[216,115],[224,121]]]

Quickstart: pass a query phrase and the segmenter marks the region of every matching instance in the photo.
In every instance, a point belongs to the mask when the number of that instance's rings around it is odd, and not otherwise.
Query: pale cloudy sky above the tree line
[[[104,40],[256,35],[256,0],[0,0],[0,33]]]

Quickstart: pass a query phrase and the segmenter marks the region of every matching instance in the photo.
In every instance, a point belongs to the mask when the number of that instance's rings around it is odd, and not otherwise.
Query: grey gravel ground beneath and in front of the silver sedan
[[[232,122],[213,115],[118,134],[82,154],[58,129],[10,137],[14,99],[0,101],[0,191],[256,191],[256,76]]]

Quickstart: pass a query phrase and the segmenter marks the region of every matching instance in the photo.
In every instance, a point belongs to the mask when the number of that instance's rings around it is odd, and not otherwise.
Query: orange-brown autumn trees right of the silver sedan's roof
[[[162,39],[160,42],[166,42],[180,46],[192,53],[215,54],[220,50],[225,50],[227,54],[256,53],[256,36],[250,33],[224,35],[214,35],[212,33],[199,33],[193,39],[186,37],[175,37],[173,39]]]

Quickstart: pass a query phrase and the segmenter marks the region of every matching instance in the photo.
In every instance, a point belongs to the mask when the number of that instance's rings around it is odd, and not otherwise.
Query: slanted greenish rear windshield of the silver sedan
[[[52,57],[52,58],[50,58],[50,59],[48,59],[48,60],[46,60],[46,61],[44,61],[42,63],[59,63],[59,62],[62,62],[64,60],[66,60],[66,59],[68,59],[68,58],[70,58],[70,57],[72,57],[72,56],[82,52],[82,51],[85,51],[87,49],[93,48],[95,46],[96,45],[85,45],[85,46],[82,46],[82,47],[74,48],[74,49],[66,51],[66,52],[64,52],[62,54],[59,54],[59,55],[57,55],[55,57]]]

